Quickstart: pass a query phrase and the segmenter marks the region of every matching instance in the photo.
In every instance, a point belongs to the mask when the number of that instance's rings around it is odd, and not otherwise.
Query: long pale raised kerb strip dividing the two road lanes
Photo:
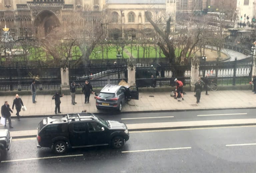
[[[129,131],[162,130],[162,129],[184,129],[203,127],[226,127],[226,126],[253,126],[256,125],[256,118],[248,119],[227,119],[227,120],[201,120],[201,121],[178,121],[161,123],[138,123],[126,124]],[[11,131],[13,138],[35,137],[37,130]]]

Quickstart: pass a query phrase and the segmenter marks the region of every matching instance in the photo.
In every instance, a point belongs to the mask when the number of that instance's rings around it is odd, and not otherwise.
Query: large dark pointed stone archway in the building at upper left
[[[60,25],[59,18],[50,10],[40,12],[34,19],[36,35],[39,38],[46,37],[53,28],[59,27]]]

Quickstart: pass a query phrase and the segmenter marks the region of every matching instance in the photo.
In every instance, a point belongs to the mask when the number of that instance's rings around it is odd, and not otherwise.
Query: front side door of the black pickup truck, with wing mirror
[[[89,145],[108,145],[108,128],[98,122],[88,122]]]

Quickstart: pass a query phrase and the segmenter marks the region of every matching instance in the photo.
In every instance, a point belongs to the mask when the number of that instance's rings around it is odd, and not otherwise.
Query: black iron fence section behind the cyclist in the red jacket
[[[190,85],[190,70],[190,65],[140,64],[136,67],[136,85],[138,87],[175,86],[175,78],[181,80],[184,85]]]

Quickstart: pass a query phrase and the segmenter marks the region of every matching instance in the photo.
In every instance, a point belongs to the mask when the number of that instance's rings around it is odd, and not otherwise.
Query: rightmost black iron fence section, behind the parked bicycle
[[[218,85],[245,85],[252,78],[252,64],[237,64],[236,61],[229,64],[200,65],[200,76],[209,75],[215,79]]]

